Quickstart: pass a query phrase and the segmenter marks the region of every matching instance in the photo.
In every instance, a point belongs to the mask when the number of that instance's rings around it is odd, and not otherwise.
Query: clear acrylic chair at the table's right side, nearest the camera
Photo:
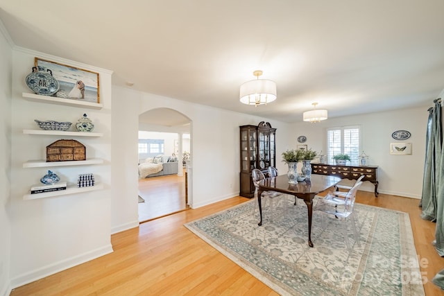
[[[356,228],[356,213],[353,209],[355,207],[356,193],[361,184],[361,181],[356,182],[347,192],[330,191],[324,198],[318,198],[316,205],[313,207],[313,211],[323,211],[326,214],[335,216],[335,218],[341,218],[344,221],[345,225],[341,228],[343,229],[345,245],[347,245],[348,250],[352,249],[350,242],[348,241],[348,224],[352,227],[355,243],[360,246],[359,233]],[[350,223],[348,223],[348,221],[350,221]],[[322,227],[325,229],[326,225],[324,225],[324,220],[322,221],[322,224]]]

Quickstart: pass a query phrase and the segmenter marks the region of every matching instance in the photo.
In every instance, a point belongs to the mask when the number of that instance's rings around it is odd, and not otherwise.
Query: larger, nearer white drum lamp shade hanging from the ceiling
[[[247,105],[262,105],[276,99],[276,83],[272,80],[250,80],[241,85],[239,98]]]

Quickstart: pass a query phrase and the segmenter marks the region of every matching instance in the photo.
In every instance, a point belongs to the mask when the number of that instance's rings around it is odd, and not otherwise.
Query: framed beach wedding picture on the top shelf
[[[41,58],[35,58],[34,64],[37,69],[50,69],[53,77],[58,80],[60,89],[54,96],[100,103],[99,73]]]

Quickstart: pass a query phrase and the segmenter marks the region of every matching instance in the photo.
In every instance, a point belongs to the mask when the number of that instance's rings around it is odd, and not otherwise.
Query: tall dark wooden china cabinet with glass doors
[[[276,129],[270,123],[262,121],[259,125],[241,125],[240,127],[240,193],[246,198],[253,198],[255,186],[251,171],[259,168],[264,174],[268,166],[276,166],[275,135]]]

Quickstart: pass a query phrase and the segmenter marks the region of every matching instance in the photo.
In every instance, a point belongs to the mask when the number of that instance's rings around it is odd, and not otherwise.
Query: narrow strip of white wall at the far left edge
[[[12,50],[0,21],[0,295],[10,292],[11,224],[8,204],[11,182]]]

